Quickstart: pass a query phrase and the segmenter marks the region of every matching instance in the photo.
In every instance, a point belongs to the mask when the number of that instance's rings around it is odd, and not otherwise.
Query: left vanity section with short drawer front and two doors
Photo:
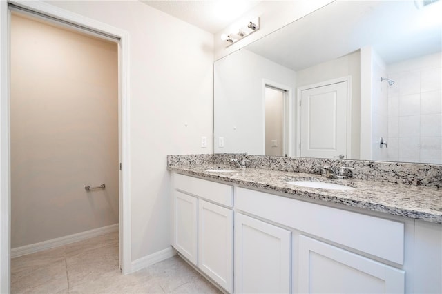
[[[173,175],[173,247],[233,292],[233,186]]]

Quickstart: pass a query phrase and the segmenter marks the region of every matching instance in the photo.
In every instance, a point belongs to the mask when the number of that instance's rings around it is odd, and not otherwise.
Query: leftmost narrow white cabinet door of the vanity
[[[198,199],[181,193],[175,193],[175,218],[173,245],[193,264],[198,262]]]

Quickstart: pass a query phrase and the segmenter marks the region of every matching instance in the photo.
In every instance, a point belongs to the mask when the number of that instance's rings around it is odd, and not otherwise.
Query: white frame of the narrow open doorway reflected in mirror
[[[294,156],[293,154],[293,141],[294,141],[294,97],[293,89],[287,85],[280,84],[276,81],[271,81],[269,79],[262,79],[262,150],[265,155],[265,88],[269,86],[271,88],[276,88],[278,90],[284,91],[284,124],[283,124],[283,139],[282,143],[282,153],[287,154],[287,156]],[[295,145],[296,146],[296,145]]]

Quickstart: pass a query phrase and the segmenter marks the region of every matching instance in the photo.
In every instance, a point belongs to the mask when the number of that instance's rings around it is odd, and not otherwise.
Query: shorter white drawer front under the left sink
[[[233,186],[180,174],[175,174],[173,181],[177,190],[233,207]]]

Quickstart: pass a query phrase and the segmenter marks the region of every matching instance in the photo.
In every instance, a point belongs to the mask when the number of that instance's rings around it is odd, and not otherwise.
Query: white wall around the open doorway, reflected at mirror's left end
[[[242,49],[215,63],[213,79],[215,153],[265,155],[264,83],[294,89],[295,72]],[[218,147],[219,137],[224,148]]]

